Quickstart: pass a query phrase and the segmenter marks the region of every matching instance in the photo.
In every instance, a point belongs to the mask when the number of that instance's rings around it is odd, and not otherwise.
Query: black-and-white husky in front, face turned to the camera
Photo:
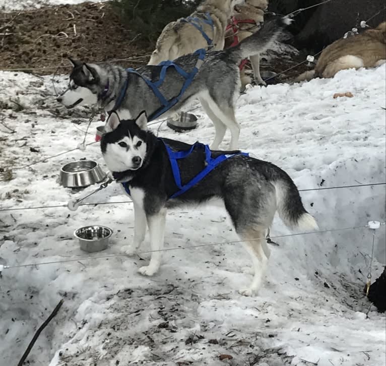
[[[229,213],[237,234],[245,240],[254,270],[252,283],[240,289],[243,295],[252,295],[261,287],[270,250],[267,229],[278,211],[290,228],[316,229],[314,218],[307,213],[299,192],[288,174],[266,161],[258,160],[239,151],[211,151],[199,144],[197,148],[179,141],[159,139],[147,129],[146,112],[136,119],[119,120],[116,113],[107,121],[107,133],[101,139],[101,151],[107,167],[134,203],[134,240],[122,247],[126,254],[134,254],[145,238],[149,226],[151,259],[139,272],[152,276],[161,264],[167,208],[188,204],[208,203],[220,199]],[[215,159],[227,154],[202,180],[181,193],[173,172],[170,151],[191,153],[178,160],[182,185],[188,184],[208,162],[208,152]],[[225,155],[226,156],[226,155]],[[180,194],[176,196],[176,193]],[[258,240],[256,240],[258,239]]]

